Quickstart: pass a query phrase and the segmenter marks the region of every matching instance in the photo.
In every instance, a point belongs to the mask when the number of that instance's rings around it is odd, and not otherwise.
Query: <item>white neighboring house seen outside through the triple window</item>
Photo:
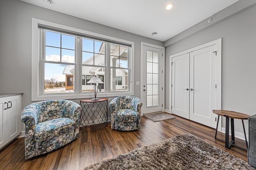
[[[84,61],[82,64],[82,92],[93,92],[94,84],[87,83],[93,76],[97,76],[104,82],[105,79],[105,68],[97,66],[105,66],[105,43],[102,43],[98,53],[95,53],[92,57]],[[120,49],[119,49],[120,48]],[[114,67],[119,67],[117,69],[111,69],[110,77],[112,81],[110,82],[111,91],[118,90],[128,90],[128,70],[122,69],[122,66],[119,66],[120,61],[126,61],[128,63],[127,50],[121,49],[125,47],[120,47],[118,45],[113,45],[110,48],[110,65]],[[120,51],[120,52],[119,52]],[[119,54],[120,53],[120,54]],[[88,66],[92,65],[92,66]],[[65,66],[63,74],[66,75],[66,90],[74,89],[73,80],[74,80],[74,67]],[[115,84],[115,86],[113,86]],[[104,83],[98,84],[99,91],[104,91]]]

